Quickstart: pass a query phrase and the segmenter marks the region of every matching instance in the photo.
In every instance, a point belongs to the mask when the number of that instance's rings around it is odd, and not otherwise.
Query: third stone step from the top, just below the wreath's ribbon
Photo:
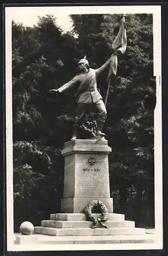
[[[53,228],[35,227],[35,233],[49,236],[111,236],[115,234],[145,234],[145,228]]]

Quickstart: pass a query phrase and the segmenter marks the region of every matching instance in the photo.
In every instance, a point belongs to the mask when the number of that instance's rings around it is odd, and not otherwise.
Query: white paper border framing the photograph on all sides
[[[46,14],[153,14],[153,53],[156,77],[156,107],[154,111],[154,165],[155,165],[155,243],[153,244],[93,244],[93,245],[14,245],[13,222],[13,140],[12,140],[12,13],[18,8],[45,8]],[[20,9],[21,15],[21,9]],[[161,6],[39,6],[5,7],[6,46],[6,182],[7,182],[7,251],[66,251],[66,250],[139,250],[163,248],[162,210],[162,86],[161,86]]]

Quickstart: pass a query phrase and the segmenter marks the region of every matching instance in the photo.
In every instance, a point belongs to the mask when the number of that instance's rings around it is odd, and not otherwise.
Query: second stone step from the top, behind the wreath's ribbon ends
[[[135,227],[134,221],[106,221],[105,225],[110,228],[115,227]],[[57,220],[43,220],[41,221],[43,227],[54,228],[90,228],[93,226],[91,221],[57,221]],[[102,227],[99,225],[99,227]]]

